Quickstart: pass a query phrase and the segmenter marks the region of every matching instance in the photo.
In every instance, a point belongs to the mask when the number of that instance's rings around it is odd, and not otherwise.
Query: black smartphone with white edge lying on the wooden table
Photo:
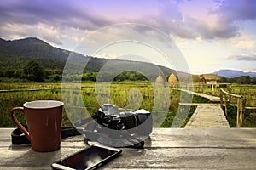
[[[113,158],[120,156],[122,150],[93,144],[84,150],[80,150],[71,156],[67,156],[61,161],[56,161],[51,165],[53,169],[72,170],[72,169],[96,169],[108,163]]]

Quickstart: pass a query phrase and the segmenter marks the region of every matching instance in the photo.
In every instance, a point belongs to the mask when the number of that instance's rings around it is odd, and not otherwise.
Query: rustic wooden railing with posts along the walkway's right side
[[[245,114],[245,105],[246,105],[246,99],[243,99],[242,95],[237,95],[237,94],[230,94],[224,89],[220,89],[219,92],[220,95],[220,106],[221,108],[225,108],[225,115],[228,116],[228,111],[227,111],[227,98],[226,95],[229,95],[230,97],[235,97],[237,99],[237,115],[236,115],[236,127],[242,127],[242,122],[243,122],[243,117]]]

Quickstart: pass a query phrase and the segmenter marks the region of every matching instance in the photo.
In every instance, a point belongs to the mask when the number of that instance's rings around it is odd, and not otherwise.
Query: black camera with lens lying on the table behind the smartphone
[[[87,126],[83,128],[85,124]],[[152,133],[153,120],[151,113],[144,109],[125,111],[112,104],[103,104],[94,116],[73,125],[87,139],[101,144],[143,148],[144,140]]]

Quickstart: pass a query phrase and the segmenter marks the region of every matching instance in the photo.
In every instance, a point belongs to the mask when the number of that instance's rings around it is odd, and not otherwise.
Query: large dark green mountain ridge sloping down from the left
[[[39,65],[43,66],[45,69],[59,69],[62,70],[66,64],[66,60],[69,55],[73,53],[66,49],[55,48],[49,43],[44,42],[36,37],[28,37],[19,40],[4,40],[0,38],[0,67],[1,69],[22,69],[26,63],[31,60],[35,60]],[[88,64],[84,71],[98,72],[101,70],[103,65],[106,65],[110,59],[96,58],[92,56],[84,56],[82,54],[76,54],[79,57],[85,57],[88,59]],[[184,73],[182,71],[175,71],[170,68],[166,68],[161,65],[154,65],[151,63],[145,63],[140,61],[128,61],[128,60],[118,60],[111,59],[111,65],[114,68],[121,70],[122,67],[134,69],[137,68],[147,71],[148,74],[153,73],[150,68],[158,66],[160,70],[168,77],[171,73],[178,74],[179,76],[188,77],[189,73]],[[120,67],[120,68],[119,68]],[[160,72],[154,71],[154,77],[157,77]]]

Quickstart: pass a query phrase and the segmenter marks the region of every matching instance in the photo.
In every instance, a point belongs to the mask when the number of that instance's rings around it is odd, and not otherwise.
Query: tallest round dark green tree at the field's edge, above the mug
[[[44,68],[33,60],[25,65],[23,73],[28,80],[44,82]]]

